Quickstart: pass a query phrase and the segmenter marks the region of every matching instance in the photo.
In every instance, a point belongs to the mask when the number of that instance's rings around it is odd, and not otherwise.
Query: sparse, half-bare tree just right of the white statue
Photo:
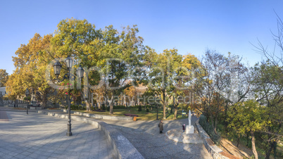
[[[225,115],[228,106],[241,101],[249,92],[249,85],[242,84],[247,79],[244,77],[246,71],[238,56],[228,53],[226,57],[210,50],[195,71],[193,92],[199,97],[196,98],[199,103],[194,106],[210,120],[216,134],[220,115]],[[239,87],[241,84],[243,87]]]

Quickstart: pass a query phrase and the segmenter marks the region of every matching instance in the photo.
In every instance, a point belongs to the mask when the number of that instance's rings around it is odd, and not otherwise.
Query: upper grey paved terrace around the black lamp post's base
[[[115,158],[106,136],[93,125],[39,113],[0,110],[0,158]],[[8,116],[8,120],[3,115]]]

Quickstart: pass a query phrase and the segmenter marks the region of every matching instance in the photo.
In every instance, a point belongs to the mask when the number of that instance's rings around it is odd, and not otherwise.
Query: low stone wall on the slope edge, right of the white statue
[[[223,151],[218,148],[215,144],[213,144],[213,141],[211,141],[209,135],[204,131],[203,127],[199,125],[199,120],[196,120],[196,128],[199,131],[199,134],[201,134],[201,138],[203,139],[203,144],[206,147],[206,150],[210,155],[212,155],[213,158],[222,158],[222,159],[228,159],[226,156],[222,155]]]

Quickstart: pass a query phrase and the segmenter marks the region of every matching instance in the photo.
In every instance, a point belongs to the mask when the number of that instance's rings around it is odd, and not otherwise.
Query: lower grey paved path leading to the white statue
[[[192,117],[191,125],[194,125],[196,120],[197,117]],[[103,120],[103,122],[120,129],[144,158],[212,158],[203,144],[176,142],[165,135],[170,129],[180,129],[182,132],[182,125],[188,125],[188,119],[163,120],[163,134],[159,134],[159,120],[137,122]]]

